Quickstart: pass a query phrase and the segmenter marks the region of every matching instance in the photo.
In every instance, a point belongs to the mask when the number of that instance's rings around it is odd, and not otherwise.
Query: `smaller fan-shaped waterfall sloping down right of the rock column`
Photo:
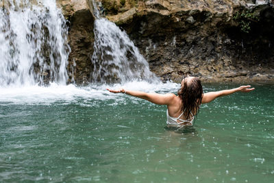
[[[129,36],[114,23],[99,17],[97,5],[92,1],[96,16],[95,45],[92,55],[94,82],[159,81],[151,71],[147,60]]]

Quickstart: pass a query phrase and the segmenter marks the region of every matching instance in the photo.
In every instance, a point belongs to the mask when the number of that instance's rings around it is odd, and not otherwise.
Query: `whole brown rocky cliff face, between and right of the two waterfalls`
[[[69,69],[75,60],[76,69],[70,71],[77,83],[83,83],[90,80],[94,18],[89,12],[90,0],[72,1],[60,4],[71,19]],[[78,3],[89,7],[77,10]],[[164,81],[179,82],[186,74],[200,77],[203,82],[274,80],[271,1],[264,5],[239,0],[101,3],[101,13],[125,29],[151,71]],[[73,8],[68,11],[66,7]]]

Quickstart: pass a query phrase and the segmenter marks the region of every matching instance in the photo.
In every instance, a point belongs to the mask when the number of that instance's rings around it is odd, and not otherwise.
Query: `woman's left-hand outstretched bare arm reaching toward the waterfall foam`
[[[152,103],[156,103],[160,105],[171,104],[175,97],[173,93],[167,93],[167,94],[145,93],[142,91],[124,90],[123,88],[118,90],[110,90],[107,88],[107,90],[109,90],[111,93],[125,93],[127,95],[132,95],[134,97],[146,99],[147,101],[151,101]]]

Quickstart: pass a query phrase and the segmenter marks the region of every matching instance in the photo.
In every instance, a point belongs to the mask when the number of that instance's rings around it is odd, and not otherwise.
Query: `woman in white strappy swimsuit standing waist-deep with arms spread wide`
[[[173,93],[157,94],[145,93],[135,90],[109,90],[111,93],[125,93],[141,99],[146,99],[152,103],[166,105],[166,125],[168,127],[182,127],[192,125],[195,115],[198,114],[201,103],[208,103],[217,97],[223,97],[236,92],[250,92],[254,88],[251,86],[240,86],[230,90],[220,90],[216,92],[203,93],[201,80],[197,77],[184,77],[181,82],[181,88],[178,90],[178,95]]]

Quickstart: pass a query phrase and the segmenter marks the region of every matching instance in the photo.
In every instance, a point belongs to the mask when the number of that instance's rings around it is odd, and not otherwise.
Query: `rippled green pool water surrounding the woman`
[[[273,182],[274,86],[255,87],[201,106],[188,134],[164,129],[165,106],[120,94],[1,101],[0,182]]]

